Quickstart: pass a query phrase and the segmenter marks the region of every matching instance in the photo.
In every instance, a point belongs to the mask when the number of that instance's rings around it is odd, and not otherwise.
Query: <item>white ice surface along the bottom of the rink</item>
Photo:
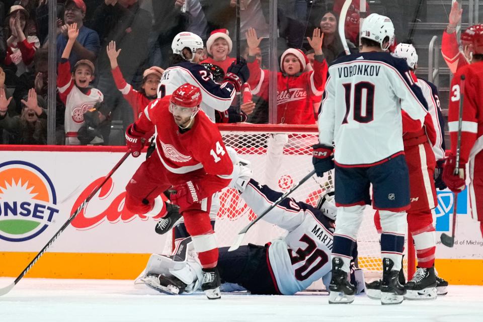
[[[13,278],[0,278],[0,287]],[[365,295],[352,304],[328,304],[328,296],[222,294],[170,296],[135,289],[132,281],[24,278],[0,297],[0,322],[123,321],[483,321],[483,287],[450,286],[432,301],[384,305]]]

